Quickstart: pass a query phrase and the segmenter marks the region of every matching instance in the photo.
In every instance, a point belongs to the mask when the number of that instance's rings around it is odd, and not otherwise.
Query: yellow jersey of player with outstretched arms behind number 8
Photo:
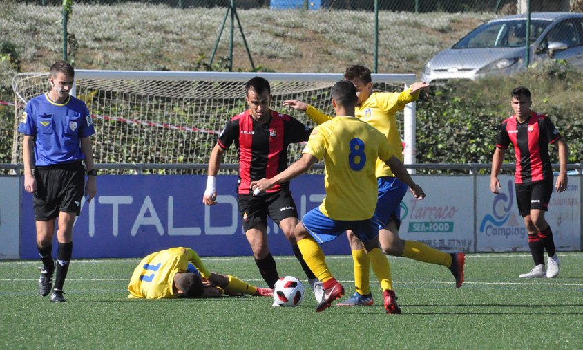
[[[389,145],[396,152],[396,158],[399,158],[401,162],[403,161],[403,146],[401,145],[399,128],[396,126],[395,115],[396,112],[403,110],[406,104],[416,101],[417,98],[419,98],[419,91],[413,93],[411,88],[400,93],[374,92],[354,110],[354,115],[357,118],[367,122],[385,135]],[[305,113],[318,125],[333,118],[310,105]],[[376,177],[382,176],[394,176],[394,174],[385,162],[377,160]]]

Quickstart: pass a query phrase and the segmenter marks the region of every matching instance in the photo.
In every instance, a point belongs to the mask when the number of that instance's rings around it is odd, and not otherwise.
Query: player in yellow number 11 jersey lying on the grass
[[[194,250],[184,247],[144,257],[133,271],[128,291],[129,298],[144,299],[220,297],[223,293],[271,297],[274,293],[231,275],[211,273]]]

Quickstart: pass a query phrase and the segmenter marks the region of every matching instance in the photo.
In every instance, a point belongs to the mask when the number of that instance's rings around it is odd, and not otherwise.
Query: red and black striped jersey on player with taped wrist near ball
[[[227,122],[218,145],[228,149],[233,142],[239,159],[238,193],[251,194],[251,181],[272,178],[287,169],[287,146],[307,141],[312,129],[287,114],[271,111],[269,122],[253,119],[249,110]],[[267,192],[289,188],[289,181]]]

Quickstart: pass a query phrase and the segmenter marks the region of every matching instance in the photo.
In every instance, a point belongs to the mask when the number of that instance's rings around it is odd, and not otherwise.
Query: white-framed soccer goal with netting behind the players
[[[302,100],[334,115],[330,89],[342,79],[341,74],[77,70],[72,94],[92,114],[97,131],[92,138],[95,163],[100,169],[124,174],[140,165],[146,173],[204,174],[225,122],[247,109],[245,82],[257,75],[271,84],[271,109],[310,126],[314,124],[303,112],[287,110],[282,102]],[[377,91],[403,91],[414,75],[378,74],[372,79]],[[26,102],[49,90],[48,73],[16,75],[13,89],[17,108],[12,163],[19,164],[22,135],[17,126]],[[401,130],[407,113],[414,118],[414,106],[399,113]],[[302,149],[303,145],[289,147],[290,163]],[[405,163],[413,162],[405,158]],[[222,164],[222,174],[236,172],[235,147],[225,153]]]

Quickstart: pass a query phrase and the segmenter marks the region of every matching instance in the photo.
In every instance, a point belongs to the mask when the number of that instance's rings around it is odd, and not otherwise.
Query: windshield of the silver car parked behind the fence
[[[550,21],[531,21],[531,44],[542,34]],[[479,26],[452,48],[519,47],[526,44],[526,20],[497,21]]]

